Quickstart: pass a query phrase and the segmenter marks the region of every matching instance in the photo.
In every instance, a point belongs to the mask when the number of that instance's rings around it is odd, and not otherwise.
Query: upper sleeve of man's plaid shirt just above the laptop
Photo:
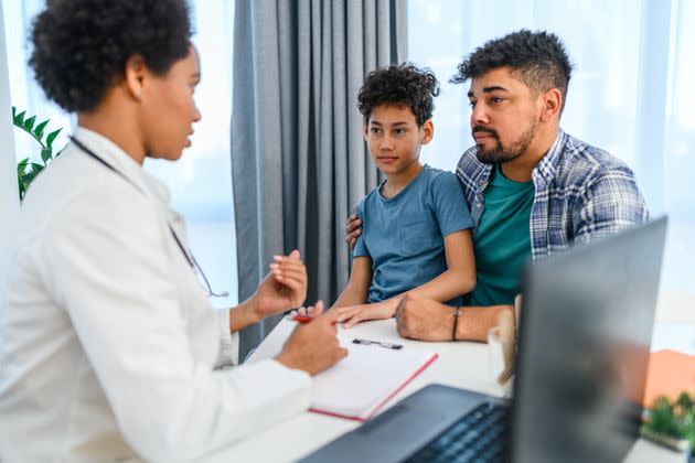
[[[626,166],[607,169],[592,179],[571,214],[575,244],[614,235],[649,218],[634,174]]]

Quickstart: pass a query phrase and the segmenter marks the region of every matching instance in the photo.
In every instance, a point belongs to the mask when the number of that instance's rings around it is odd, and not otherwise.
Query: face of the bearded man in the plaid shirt
[[[480,162],[504,163],[526,152],[538,131],[538,98],[509,67],[473,78],[468,99]]]

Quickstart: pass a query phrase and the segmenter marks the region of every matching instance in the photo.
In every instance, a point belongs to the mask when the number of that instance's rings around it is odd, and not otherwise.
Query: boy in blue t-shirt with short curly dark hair
[[[365,226],[333,305],[345,327],[393,316],[406,291],[459,306],[475,286],[473,222],[459,181],[419,161],[437,95],[435,75],[409,64],[370,73],[360,89],[364,139],[386,180],[357,205]]]

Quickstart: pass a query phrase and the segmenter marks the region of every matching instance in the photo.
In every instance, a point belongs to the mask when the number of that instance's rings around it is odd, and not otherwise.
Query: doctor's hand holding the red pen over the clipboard
[[[348,349],[338,343],[335,330],[338,312],[320,313],[322,310],[323,303],[317,302],[313,310],[316,319],[295,329],[285,342],[282,352],[275,357],[276,360],[288,368],[316,375],[348,355]]]

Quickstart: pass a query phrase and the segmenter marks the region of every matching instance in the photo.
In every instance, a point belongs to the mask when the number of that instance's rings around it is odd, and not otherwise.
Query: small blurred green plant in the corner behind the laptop
[[[644,431],[672,439],[684,439],[691,443],[695,455],[695,398],[683,391],[675,401],[661,396],[649,410]]]

